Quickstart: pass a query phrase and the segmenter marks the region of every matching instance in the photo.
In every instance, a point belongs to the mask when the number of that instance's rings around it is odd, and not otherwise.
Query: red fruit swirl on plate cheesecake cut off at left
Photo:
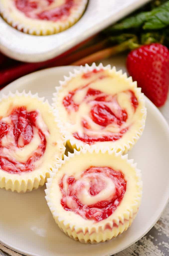
[[[38,161],[44,154],[46,149],[46,138],[42,130],[38,127],[36,120],[38,111],[27,112],[24,106],[14,108],[7,117],[10,122],[6,122],[5,118],[0,120],[0,168],[8,173],[31,172],[34,170],[34,163]],[[3,120],[4,119],[4,120]],[[18,162],[14,159],[10,152],[22,149],[28,145],[33,138],[33,129],[38,131],[41,143],[37,150],[30,152],[26,162]],[[7,143],[3,143],[6,136]]]

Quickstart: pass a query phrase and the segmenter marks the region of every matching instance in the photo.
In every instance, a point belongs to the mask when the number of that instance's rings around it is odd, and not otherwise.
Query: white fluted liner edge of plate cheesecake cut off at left
[[[38,102],[41,102],[41,104],[44,104],[45,108],[48,108],[49,115],[53,115],[53,125],[57,127],[57,123],[55,121],[55,115],[53,113],[53,108],[50,106],[48,101],[44,101],[44,97],[40,98],[38,96],[38,93],[32,94],[31,91],[29,93],[26,93],[23,91],[22,93],[16,91],[16,93],[9,92],[8,95],[2,95],[0,99],[3,101],[7,98],[15,98],[16,96],[19,97],[30,97],[30,99],[36,99]],[[58,129],[58,128],[57,128]],[[58,130],[59,134],[59,130]],[[3,170],[1,170],[0,173],[0,188],[5,188],[6,190],[11,189],[11,191],[17,191],[20,192],[26,192],[31,191],[32,189],[37,189],[39,186],[43,186],[46,179],[50,177],[50,174],[52,172],[52,169],[55,167],[55,164],[60,163],[62,161],[61,158],[63,158],[65,153],[65,139],[64,137],[59,134],[59,137],[61,140],[58,142],[58,149],[60,152],[60,156],[57,155],[57,153],[53,156],[53,159],[50,159],[49,166],[43,170],[43,172],[39,172],[39,170],[33,170],[31,172],[21,173],[19,174],[9,174]],[[18,176],[19,175],[19,176]]]

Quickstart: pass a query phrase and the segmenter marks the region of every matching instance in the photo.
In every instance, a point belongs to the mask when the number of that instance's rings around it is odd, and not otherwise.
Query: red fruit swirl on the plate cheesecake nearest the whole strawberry
[[[94,77],[92,79],[92,77]],[[116,141],[122,138],[123,134],[129,129],[125,125],[128,114],[126,109],[122,109],[118,103],[118,94],[108,95],[100,90],[91,88],[92,83],[99,80],[103,80],[108,76],[104,73],[104,70],[93,70],[82,75],[82,79],[90,79],[90,81],[73,91],[69,91],[67,96],[63,99],[63,105],[65,106],[68,114],[72,112],[79,111],[81,103],[90,105],[90,112],[88,113],[89,119],[86,120],[85,117],[81,116],[81,126],[83,129],[83,134],[79,132],[74,132],[73,136],[83,142],[88,144],[93,144],[94,142],[103,142],[103,141]],[[76,93],[82,92],[84,90],[84,98],[81,99],[81,103],[76,103],[74,97]],[[138,107],[138,100],[135,96],[135,93],[132,90],[126,90],[121,93],[125,93],[126,96],[129,95],[130,104],[133,107],[133,112],[136,111]],[[126,97],[127,99],[127,97]],[[83,107],[84,108],[84,107]],[[96,127],[92,124],[95,123],[98,125],[97,130],[94,130]],[[100,126],[100,128],[99,128]],[[112,132],[112,127],[116,127]],[[98,130],[100,129],[100,133]]]

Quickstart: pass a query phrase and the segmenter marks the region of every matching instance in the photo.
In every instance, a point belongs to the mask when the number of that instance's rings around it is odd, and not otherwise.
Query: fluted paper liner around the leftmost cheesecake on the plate
[[[49,105],[48,101],[44,101],[43,98],[38,97],[38,93],[36,94],[31,94],[26,93],[23,91],[22,93],[19,93],[16,91],[16,93],[11,93],[9,92],[8,95],[2,95],[2,98],[0,100],[3,102],[3,100],[6,100],[8,98],[15,98],[18,97],[22,98],[30,98],[30,105],[33,104],[39,104],[41,107],[44,109],[44,112],[47,114],[49,120],[52,120],[51,122],[53,123],[53,136],[56,134],[57,140],[57,147],[53,150],[53,156],[49,159],[49,161],[45,161],[42,163],[40,167],[37,169],[31,171],[31,172],[24,172],[24,173],[8,173],[2,169],[0,169],[0,188],[5,188],[6,190],[11,189],[11,191],[17,191],[17,192],[26,192],[26,191],[31,191],[32,189],[37,189],[39,186],[43,186],[44,183],[46,182],[47,178],[50,176],[50,173],[52,172],[52,169],[55,167],[55,164],[58,164],[62,161],[62,157],[65,152],[65,139],[64,137],[59,133],[57,134],[57,123],[55,121],[55,115],[53,113],[52,107]],[[23,103],[24,105],[24,103]],[[15,103],[15,106],[17,104]],[[42,111],[41,111],[42,113]],[[54,130],[55,129],[55,130]],[[51,146],[50,146],[51,147]],[[48,148],[49,150],[50,148]],[[56,151],[56,152],[55,152]],[[47,157],[47,156],[45,156]]]

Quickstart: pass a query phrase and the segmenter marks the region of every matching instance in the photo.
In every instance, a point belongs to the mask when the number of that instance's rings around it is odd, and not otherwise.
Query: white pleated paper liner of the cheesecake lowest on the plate
[[[112,157],[115,157],[116,159],[120,159],[120,161],[123,161],[125,165],[129,166],[129,168],[132,169],[132,173],[134,170],[134,177],[136,180],[136,191],[137,193],[135,195],[132,195],[133,198],[131,200],[131,204],[127,205],[127,207],[120,213],[118,212],[116,215],[114,213],[110,215],[107,219],[104,219],[102,221],[99,221],[97,223],[90,223],[91,225],[86,225],[86,220],[81,218],[81,221],[77,218],[79,216],[77,214],[74,214],[75,217],[73,218],[71,215],[71,220],[69,219],[69,215],[65,215],[61,208],[58,207],[58,204],[60,204],[60,199],[56,199],[56,194],[54,191],[55,185],[55,177],[57,173],[62,172],[62,166],[67,163],[68,161],[71,161],[71,158],[75,158],[79,156],[80,154],[108,154]],[[55,219],[56,223],[58,224],[59,228],[67,234],[69,237],[78,240],[82,243],[99,243],[104,242],[106,240],[110,240],[113,237],[118,236],[123,231],[127,230],[128,227],[130,227],[132,221],[135,219],[140,203],[141,203],[141,197],[142,197],[142,181],[141,181],[141,171],[136,168],[137,164],[133,163],[133,159],[129,160],[128,155],[122,155],[122,152],[115,152],[115,150],[109,150],[109,148],[104,149],[93,149],[89,145],[86,145],[84,148],[80,148],[80,151],[74,151],[73,154],[68,153],[68,156],[64,157],[64,160],[62,161],[62,165],[58,165],[54,172],[50,175],[50,178],[47,179],[45,190],[46,193],[46,200],[47,204],[52,212],[53,218]],[[92,156],[93,157],[93,156]],[[107,159],[107,158],[106,158]],[[90,164],[90,163],[89,163]],[[123,170],[122,170],[123,172]],[[57,179],[56,179],[57,182]],[[129,189],[129,188],[128,188]],[[128,192],[130,194],[130,192]],[[59,195],[58,195],[59,198]],[[123,200],[123,199],[122,199]],[[121,208],[123,209],[123,208]],[[66,211],[67,212],[67,211]],[[73,219],[73,221],[72,221]],[[80,224],[79,224],[80,223]]]

